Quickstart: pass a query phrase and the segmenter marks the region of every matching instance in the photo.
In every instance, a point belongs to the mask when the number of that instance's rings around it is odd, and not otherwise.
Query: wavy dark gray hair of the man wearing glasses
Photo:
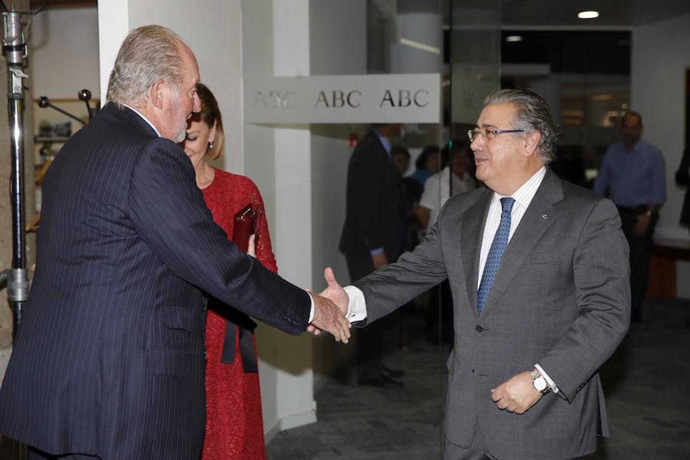
[[[510,103],[515,106],[517,114],[513,119],[513,128],[524,130],[527,134],[539,131],[541,139],[537,146],[538,157],[544,163],[550,163],[556,156],[556,138],[558,126],[551,117],[549,104],[538,92],[533,90],[498,90],[484,99],[484,105]]]

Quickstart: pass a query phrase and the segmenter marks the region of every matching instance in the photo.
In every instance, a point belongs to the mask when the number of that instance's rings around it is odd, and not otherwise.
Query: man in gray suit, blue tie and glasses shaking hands
[[[628,246],[608,199],[556,177],[542,97],[500,90],[468,134],[486,188],[453,197],[414,252],[331,297],[365,326],[449,279],[446,459],[572,459],[608,435],[598,368],[627,332]]]

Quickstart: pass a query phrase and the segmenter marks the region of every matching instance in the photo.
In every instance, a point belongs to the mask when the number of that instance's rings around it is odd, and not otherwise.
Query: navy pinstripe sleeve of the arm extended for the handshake
[[[141,239],[177,276],[270,326],[290,334],[306,330],[309,294],[228,241],[175,144],[152,139],[139,153],[128,207]]]

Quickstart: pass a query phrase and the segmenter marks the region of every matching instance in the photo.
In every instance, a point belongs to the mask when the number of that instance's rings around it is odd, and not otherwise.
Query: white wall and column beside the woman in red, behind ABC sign
[[[245,1],[242,18],[244,79],[309,74],[307,0]],[[309,127],[246,125],[244,139],[246,174],[264,197],[278,273],[311,287]],[[257,329],[266,442],[280,430],[316,421],[313,340]]]

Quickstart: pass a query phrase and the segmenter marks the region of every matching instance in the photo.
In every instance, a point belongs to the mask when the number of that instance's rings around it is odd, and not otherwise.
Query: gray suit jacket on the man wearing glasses
[[[629,326],[628,246],[613,203],[550,170],[504,252],[477,314],[477,279],[493,192],[481,188],[444,206],[414,252],[355,283],[367,321],[395,310],[446,277],[455,343],[448,360],[446,437],[472,442],[479,427],[497,458],[565,459],[608,435],[598,368]],[[495,388],[539,363],[560,389],[522,415],[499,410]]]

